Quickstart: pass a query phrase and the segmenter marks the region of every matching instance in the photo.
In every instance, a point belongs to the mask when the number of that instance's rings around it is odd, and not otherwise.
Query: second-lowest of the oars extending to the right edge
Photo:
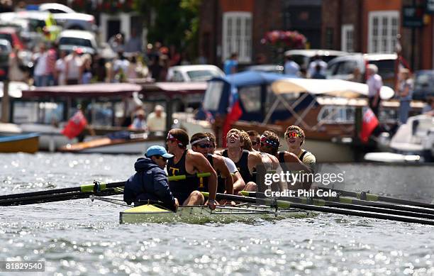
[[[243,196],[246,197],[262,197],[262,198],[265,197],[265,194],[260,192],[241,191],[241,194],[243,194]],[[282,197],[281,199],[285,199],[285,197]],[[382,202],[367,202],[365,200],[352,199],[350,197],[325,197],[323,199],[329,202],[340,202],[344,204],[355,204],[355,205],[371,206],[371,207],[377,207],[377,208],[388,209],[388,210],[391,209],[391,210],[434,215],[434,210],[432,209],[423,209],[421,207],[415,207],[415,206],[387,204]],[[389,213],[389,211],[384,211],[384,213]]]

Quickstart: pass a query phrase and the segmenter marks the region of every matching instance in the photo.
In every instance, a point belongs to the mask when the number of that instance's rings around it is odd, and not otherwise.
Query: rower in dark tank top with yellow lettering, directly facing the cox
[[[190,181],[188,177],[196,173],[209,172],[208,206],[210,209],[216,209],[216,190],[217,174],[211,164],[201,153],[195,153],[187,150],[189,144],[189,135],[182,129],[174,128],[167,134],[167,148],[174,158],[167,162],[167,173],[169,176],[186,175],[186,180],[171,181],[169,187],[175,197],[182,202],[182,205],[203,205],[204,196],[199,192],[199,183]]]

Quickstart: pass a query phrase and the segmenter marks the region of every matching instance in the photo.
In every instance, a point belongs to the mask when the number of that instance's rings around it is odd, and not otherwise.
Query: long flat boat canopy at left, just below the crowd
[[[77,84],[60,85],[53,87],[35,87],[34,89],[23,90],[23,98],[31,97],[98,97],[98,96],[130,96],[133,92],[140,92],[142,86],[128,83],[99,83],[99,84]]]

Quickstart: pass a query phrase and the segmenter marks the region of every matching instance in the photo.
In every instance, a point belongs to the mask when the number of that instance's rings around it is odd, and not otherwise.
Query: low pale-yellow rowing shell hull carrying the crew
[[[299,209],[272,209],[268,206],[241,204],[239,206],[179,206],[177,212],[168,211],[155,205],[142,205],[121,211],[120,223],[230,223],[255,222],[257,219],[279,220],[286,218],[306,218],[309,213]]]

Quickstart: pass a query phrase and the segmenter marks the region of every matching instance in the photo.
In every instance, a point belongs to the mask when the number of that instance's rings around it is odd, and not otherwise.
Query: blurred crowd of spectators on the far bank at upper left
[[[118,33],[109,39],[108,44],[116,56],[90,55],[79,47],[67,52],[60,50],[55,42],[43,42],[35,46],[30,60],[24,60],[20,57],[22,50],[14,48],[9,55],[8,78],[36,87],[126,82],[127,79],[145,77],[165,81],[169,67],[189,64],[174,45],[166,47],[156,42],[148,44],[144,50],[134,30],[129,40],[125,41],[124,35]]]

